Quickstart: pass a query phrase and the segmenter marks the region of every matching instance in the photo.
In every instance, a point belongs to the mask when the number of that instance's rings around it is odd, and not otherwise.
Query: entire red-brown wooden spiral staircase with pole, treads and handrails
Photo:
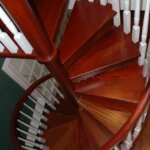
[[[17,53],[11,53],[6,47],[0,56],[36,59],[50,71],[18,101],[11,122],[14,148],[136,150],[150,96],[149,78],[138,64],[139,42],[124,33],[122,17],[121,25],[114,26],[118,11],[112,5],[80,0],[68,11],[71,4],[1,0],[33,51],[26,53],[18,46]],[[2,21],[1,28],[13,38]],[[52,99],[41,103],[32,93],[54,79]]]

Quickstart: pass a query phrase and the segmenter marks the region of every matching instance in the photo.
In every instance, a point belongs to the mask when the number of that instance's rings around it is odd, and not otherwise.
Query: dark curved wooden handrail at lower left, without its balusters
[[[37,88],[40,84],[45,82],[46,80],[52,78],[52,75],[48,74],[41,79],[34,82],[20,97],[18,103],[16,104],[16,107],[14,109],[12,119],[11,119],[11,125],[10,125],[10,134],[11,134],[11,140],[14,145],[15,150],[21,150],[19,141],[17,139],[17,132],[16,132],[16,126],[17,126],[17,116],[19,114],[20,108],[23,106],[23,103],[26,101],[27,97],[32,93],[35,88]]]

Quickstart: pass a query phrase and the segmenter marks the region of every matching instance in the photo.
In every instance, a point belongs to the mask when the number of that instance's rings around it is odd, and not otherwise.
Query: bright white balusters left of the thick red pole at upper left
[[[6,28],[14,35],[14,41],[11,39],[8,33],[3,32],[0,29],[0,52],[2,53],[6,48],[10,53],[17,53],[19,47],[25,54],[31,54],[33,52],[33,47],[24,36],[24,34],[18,31],[15,23],[11,20],[10,16],[7,14],[6,10],[0,6],[0,19],[5,24]]]

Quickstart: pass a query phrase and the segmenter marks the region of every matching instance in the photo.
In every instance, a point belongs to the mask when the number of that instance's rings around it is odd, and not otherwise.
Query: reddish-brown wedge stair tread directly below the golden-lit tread
[[[90,134],[90,139],[93,139],[93,145],[96,149],[105,144],[112,136],[112,132],[106,129],[100,122],[97,122],[90,114],[85,110],[80,110],[81,118],[84,127],[87,128],[87,132]],[[94,143],[95,141],[95,143]]]

